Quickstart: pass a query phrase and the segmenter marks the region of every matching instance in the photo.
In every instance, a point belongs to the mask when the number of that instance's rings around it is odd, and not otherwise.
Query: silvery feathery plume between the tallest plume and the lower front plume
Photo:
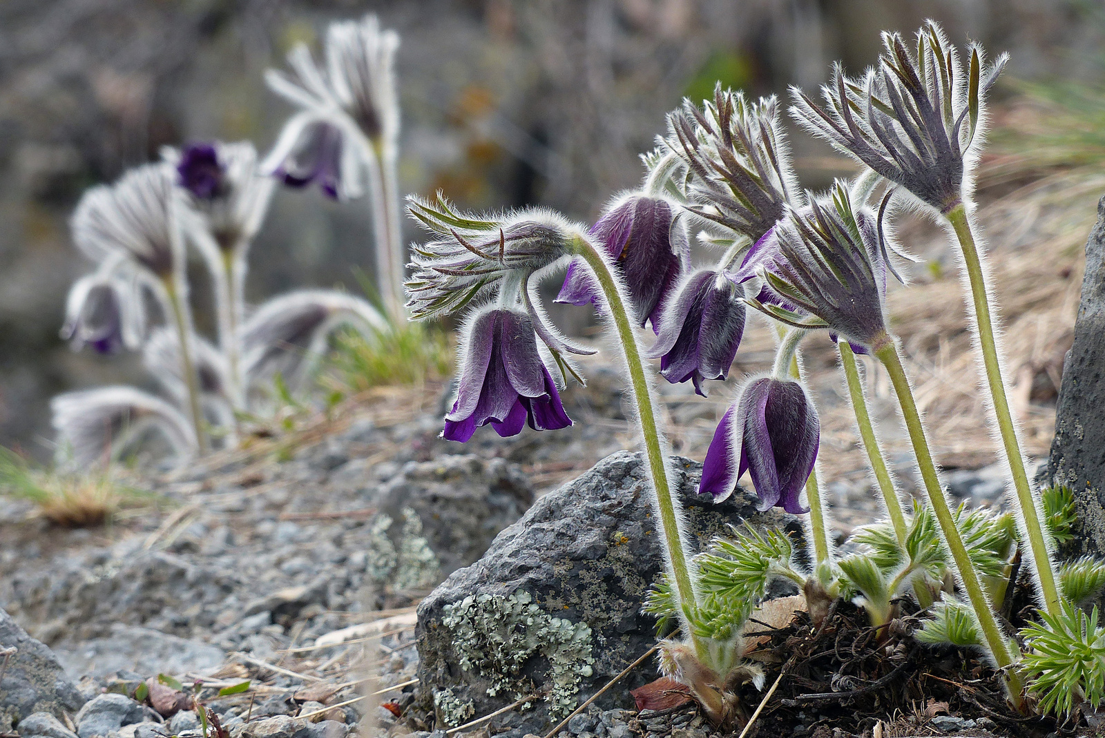
[[[667,129],[657,143],[681,162],[687,210],[720,225],[728,238],[755,243],[787,204],[802,203],[774,96],[750,103],[718,83],[702,109],[687,99],[669,114]],[[654,166],[666,162],[667,176],[677,176],[670,159],[653,158]]]

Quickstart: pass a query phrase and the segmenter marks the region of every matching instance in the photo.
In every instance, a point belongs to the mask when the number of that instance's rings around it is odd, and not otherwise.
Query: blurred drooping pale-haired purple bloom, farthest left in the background
[[[61,337],[73,350],[91,346],[101,354],[137,349],[146,335],[146,310],[127,280],[108,263],[70,287]]]

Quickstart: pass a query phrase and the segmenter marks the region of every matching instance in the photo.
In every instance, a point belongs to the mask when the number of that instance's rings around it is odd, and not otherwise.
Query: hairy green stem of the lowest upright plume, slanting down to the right
[[[944,491],[940,488],[940,481],[936,474],[936,464],[933,462],[933,455],[928,450],[928,440],[925,437],[925,428],[920,422],[920,413],[917,411],[917,404],[913,399],[913,389],[909,387],[909,379],[906,377],[905,368],[902,366],[897,346],[893,339],[886,337],[883,345],[875,351],[875,356],[886,367],[886,371],[891,377],[891,383],[894,384],[894,392],[897,394],[898,404],[902,408],[902,418],[905,420],[906,429],[909,431],[909,441],[913,442],[917,466],[920,470],[920,477],[925,486],[925,495],[928,497],[928,504],[936,515],[936,521],[940,526],[948,551],[951,554],[951,559],[955,561],[956,569],[959,572],[959,581],[962,583],[964,590],[966,590],[967,597],[970,600],[971,609],[975,611],[975,616],[978,619],[982,640],[986,642],[987,650],[990,652],[994,664],[998,668],[1004,670],[1006,688],[1009,692],[1009,699],[1019,708],[1021,706],[1021,693],[1024,685],[1017,671],[1009,668],[1015,662],[1015,656],[1010,651],[1009,642],[1006,640],[997,619],[993,616],[993,611],[990,609],[990,603],[986,598],[986,590],[982,589],[978,572],[975,571],[975,565],[971,563],[970,555],[967,552],[967,547],[959,535],[959,528],[956,527],[956,519],[948,507],[948,500],[944,497]]]

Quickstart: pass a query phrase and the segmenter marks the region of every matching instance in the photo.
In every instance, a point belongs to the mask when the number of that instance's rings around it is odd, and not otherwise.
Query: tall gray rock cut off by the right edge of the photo
[[[1071,556],[1105,555],[1105,198],[1086,241],[1082,302],[1074,345],[1063,363],[1045,478],[1074,491],[1078,523],[1067,545]]]

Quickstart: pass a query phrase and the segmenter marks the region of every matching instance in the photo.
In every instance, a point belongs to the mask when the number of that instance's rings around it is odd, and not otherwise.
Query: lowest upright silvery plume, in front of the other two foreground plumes
[[[870,210],[852,209],[840,181],[828,196],[811,197],[809,207],[788,209],[756,264],[778,299],[749,304],[798,328],[829,328],[866,348],[883,345],[886,245],[876,220]]]

